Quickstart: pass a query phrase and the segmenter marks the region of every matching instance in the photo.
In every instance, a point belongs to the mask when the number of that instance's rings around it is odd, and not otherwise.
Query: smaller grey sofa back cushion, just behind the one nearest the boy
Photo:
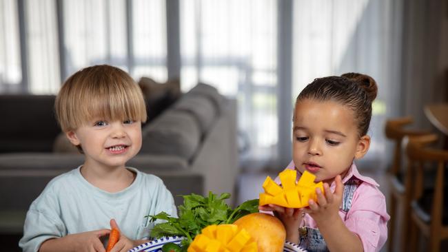
[[[214,103],[209,98],[200,95],[183,96],[177,103],[174,103],[173,109],[192,114],[201,128],[202,135],[210,129],[218,115]]]

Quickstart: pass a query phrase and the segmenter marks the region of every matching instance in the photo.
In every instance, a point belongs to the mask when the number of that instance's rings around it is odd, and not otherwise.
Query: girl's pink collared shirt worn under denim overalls
[[[295,169],[294,162],[290,162],[286,169]],[[297,177],[300,178],[300,176],[301,174],[297,172]],[[343,178],[343,183],[345,184],[352,177],[363,182],[354,192],[352,207],[348,212],[340,209],[339,216],[345,226],[359,236],[365,252],[380,251],[387,240],[387,221],[390,219],[386,211],[385,196],[378,189],[379,185],[375,180],[359,174],[355,164],[350,167],[347,176]],[[280,184],[278,177],[275,181]],[[336,183],[332,182],[330,189],[333,192],[335,187]],[[309,214],[305,215],[301,226],[318,228]]]

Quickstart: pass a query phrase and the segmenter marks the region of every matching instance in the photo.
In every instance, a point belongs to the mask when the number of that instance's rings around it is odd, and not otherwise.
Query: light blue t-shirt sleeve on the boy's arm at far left
[[[24,252],[39,251],[45,240],[65,235],[65,224],[55,212],[54,206],[57,206],[56,199],[46,191],[32,202],[26,214],[23,237],[19,241]]]

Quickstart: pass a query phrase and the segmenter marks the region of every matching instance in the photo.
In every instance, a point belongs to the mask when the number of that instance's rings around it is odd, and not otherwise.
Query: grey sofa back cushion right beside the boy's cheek
[[[201,130],[187,112],[168,109],[142,129],[141,154],[172,155],[190,160],[201,140]]]

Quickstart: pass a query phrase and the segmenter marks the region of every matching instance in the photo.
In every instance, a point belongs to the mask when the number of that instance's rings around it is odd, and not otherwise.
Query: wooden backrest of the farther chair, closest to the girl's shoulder
[[[396,176],[400,172],[400,167],[402,165],[402,149],[404,146],[403,138],[405,136],[421,136],[429,134],[427,131],[420,131],[415,129],[405,129],[404,127],[413,123],[411,116],[392,118],[386,121],[385,125],[385,135],[388,139],[394,140],[394,156],[392,160],[391,168],[389,172]]]

